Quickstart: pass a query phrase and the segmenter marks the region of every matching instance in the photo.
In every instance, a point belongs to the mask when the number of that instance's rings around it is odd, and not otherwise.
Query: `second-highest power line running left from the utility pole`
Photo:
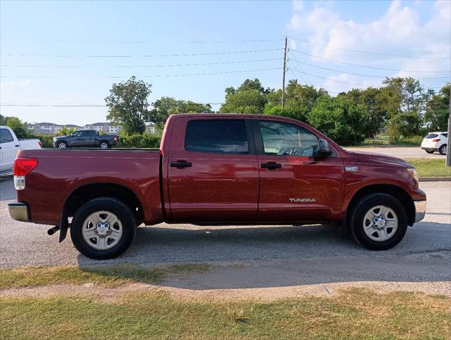
[[[86,58],[132,58],[132,57],[193,57],[201,55],[234,55],[241,53],[256,53],[256,52],[270,52],[270,51],[280,51],[282,48],[267,48],[264,50],[244,50],[244,51],[226,51],[226,52],[203,52],[203,53],[177,53],[172,55],[28,55],[28,54],[13,54],[13,53],[2,53],[7,57],[86,57]]]

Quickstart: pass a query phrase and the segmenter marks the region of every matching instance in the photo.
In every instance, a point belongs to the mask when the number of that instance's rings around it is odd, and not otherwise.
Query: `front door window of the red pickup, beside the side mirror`
[[[318,150],[318,137],[296,125],[260,121],[265,154],[279,156],[313,156]]]

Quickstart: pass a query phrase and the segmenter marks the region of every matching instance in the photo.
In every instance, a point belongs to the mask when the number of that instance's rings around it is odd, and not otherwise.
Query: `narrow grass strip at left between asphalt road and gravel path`
[[[1,288],[21,288],[59,283],[96,283],[114,287],[123,283],[158,284],[171,274],[185,275],[212,271],[205,263],[181,263],[144,268],[133,264],[116,266],[55,266],[0,269]]]

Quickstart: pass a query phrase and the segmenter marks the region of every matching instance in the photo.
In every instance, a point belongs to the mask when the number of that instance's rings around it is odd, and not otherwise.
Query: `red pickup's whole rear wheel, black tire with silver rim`
[[[122,201],[95,198],[76,210],[71,239],[75,248],[90,259],[114,259],[132,244],[136,225],[135,215]]]

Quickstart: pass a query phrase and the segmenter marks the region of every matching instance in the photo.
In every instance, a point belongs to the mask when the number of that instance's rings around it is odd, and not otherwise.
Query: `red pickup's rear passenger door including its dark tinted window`
[[[258,163],[246,120],[177,118],[167,166],[173,222],[255,220]]]

